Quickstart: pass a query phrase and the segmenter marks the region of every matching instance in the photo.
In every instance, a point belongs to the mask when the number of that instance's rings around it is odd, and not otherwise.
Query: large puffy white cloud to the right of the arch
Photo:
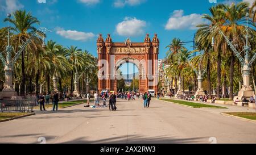
[[[175,10],[169,18],[165,28],[166,30],[196,30],[196,26],[204,23],[200,14],[184,15],[183,10]]]

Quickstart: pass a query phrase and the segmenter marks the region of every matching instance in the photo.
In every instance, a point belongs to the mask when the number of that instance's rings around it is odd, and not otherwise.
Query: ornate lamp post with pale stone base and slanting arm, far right
[[[232,44],[232,42],[228,39],[228,37],[225,36],[225,34],[220,30],[220,28],[216,27],[218,32],[221,33],[221,35],[225,38],[226,42],[228,43],[229,47],[232,49],[232,51],[235,53],[235,55],[238,57],[238,59],[240,60],[241,64],[242,64],[242,76],[243,76],[243,87],[240,90],[240,92],[238,93],[237,97],[234,97],[234,100],[236,100],[237,98],[240,100],[240,102],[242,102],[242,98],[246,98],[249,100],[249,98],[251,96],[255,96],[255,93],[253,91],[253,89],[250,86],[250,76],[251,76],[251,65],[253,64],[255,58],[256,58],[256,53],[254,54],[254,56],[250,59],[250,45],[249,45],[249,35],[248,35],[248,30],[249,30],[249,26],[248,26],[248,22],[249,22],[249,13],[246,13],[246,45],[243,49],[243,51],[245,51],[245,57],[243,58],[240,53],[243,52],[238,52],[236,47],[234,47],[234,45]],[[242,105],[242,103],[238,103],[239,105]],[[254,106],[255,104],[249,104],[249,106]]]

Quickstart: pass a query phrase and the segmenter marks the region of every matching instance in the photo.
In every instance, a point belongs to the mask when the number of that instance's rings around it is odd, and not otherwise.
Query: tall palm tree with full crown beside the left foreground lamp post
[[[25,10],[17,10],[13,14],[14,19],[10,19],[10,23],[13,24],[14,27],[11,27],[11,30],[14,33],[14,36],[12,37],[12,42],[15,51],[19,51],[19,46],[23,45],[30,37],[33,32],[36,31],[36,28],[34,25],[40,24],[39,20],[32,16],[30,12],[26,12]],[[6,18],[5,22],[7,22],[9,19]],[[30,44],[27,45],[26,52],[38,52],[38,47],[36,47],[36,44],[38,44],[38,38],[34,38],[31,40]],[[34,53],[35,55],[38,55]],[[24,95],[25,93],[25,83],[26,83],[26,73],[25,73],[25,51],[22,51],[21,57],[22,57],[22,83],[20,87],[20,95]]]

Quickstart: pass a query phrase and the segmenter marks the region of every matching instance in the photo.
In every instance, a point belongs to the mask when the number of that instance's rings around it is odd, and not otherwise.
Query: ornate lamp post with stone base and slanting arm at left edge
[[[3,55],[0,53],[0,59],[3,62],[3,65],[5,65],[5,88],[3,89],[3,91],[0,93],[0,97],[1,98],[15,98],[17,96],[17,93],[15,92],[14,88],[13,88],[13,65],[15,64],[15,62],[18,60],[19,56],[21,55],[22,51],[27,47],[27,45],[30,43],[30,41],[32,40],[32,37],[34,36],[39,36],[40,35],[44,36],[46,34],[47,28],[41,27],[38,28],[38,30],[36,30],[32,36],[26,41],[26,43],[24,43],[19,51],[16,53],[16,55],[11,58],[11,53],[12,53],[12,48],[10,45],[10,18],[11,18],[11,14],[8,14],[7,17],[9,18],[9,22],[8,22],[8,43],[6,46],[6,59],[3,57]],[[43,38],[43,44],[42,47],[45,47],[44,44],[44,38]]]

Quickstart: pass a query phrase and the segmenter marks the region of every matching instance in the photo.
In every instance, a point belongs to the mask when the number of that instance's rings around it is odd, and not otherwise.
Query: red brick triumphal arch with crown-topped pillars
[[[132,43],[127,39],[123,43],[113,43],[110,35],[104,41],[102,35],[97,40],[98,52],[98,91],[117,92],[117,69],[126,62],[133,63],[139,69],[139,91],[158,92],[158,54],[159,40],[155,35],[151,41],[147,34],[144,42]]]

